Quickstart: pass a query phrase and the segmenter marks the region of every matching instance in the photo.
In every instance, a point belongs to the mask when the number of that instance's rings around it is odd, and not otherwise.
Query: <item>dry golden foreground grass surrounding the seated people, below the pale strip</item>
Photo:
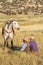
[[[1,65],[43,65],[43,34],[41,32],[32,32],[36,38],[36,42],[39,48],[39,53],[26,54],[25,52],[20,52],[18,50],[11,50],[9,48],[3,49],[2,36],[0,39],[0,64]],[[14,37],[14,45],[21,46],[23,37],[30,38],[32,33],[20,32],[17,37]]]

